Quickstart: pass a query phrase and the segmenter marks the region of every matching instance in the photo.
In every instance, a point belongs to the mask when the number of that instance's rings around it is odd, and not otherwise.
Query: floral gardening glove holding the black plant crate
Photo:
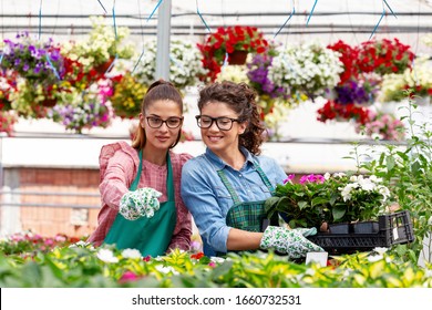
[[[317,234],[316,228],[290,230],[285,227],[268,226],[259,246],[261,249],[275,248],[279,252],[287,254],[288,258],[301,258],[310,251],[323,251],[321,247],[305,237],[315,234]]]

